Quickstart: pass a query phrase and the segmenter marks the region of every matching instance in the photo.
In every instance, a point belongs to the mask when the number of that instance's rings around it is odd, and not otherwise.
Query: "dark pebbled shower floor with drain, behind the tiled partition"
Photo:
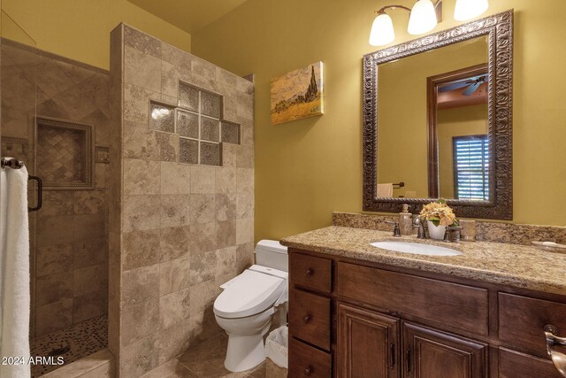
[[[37,337],[30,343],[32,356],[48,357],[53,355],[56,358],[61,356],[65,359],[65,365],[103,350],[107,346],[108,319],[106,316],[99,316],[57,332]],[[52,354],[52,351],[57,349],[68,349],[68,351],[61,354]],[[35,365],[32,367],[32,378],[40,377],[58,367],[61,366]]]

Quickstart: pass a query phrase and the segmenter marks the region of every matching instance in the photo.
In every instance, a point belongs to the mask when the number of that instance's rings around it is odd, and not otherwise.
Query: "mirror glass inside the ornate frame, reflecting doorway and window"
[[[391,197],[489,199],[487,46],[484,35],[378,66],[377,179],[405,183]]]

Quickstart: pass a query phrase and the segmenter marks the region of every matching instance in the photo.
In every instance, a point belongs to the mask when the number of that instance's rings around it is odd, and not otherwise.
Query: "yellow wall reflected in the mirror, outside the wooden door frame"
[[[487,50],[481,36],[379,66],[378,182],[403,181],[394,197],[428,197],[426,79],[485,64]]]

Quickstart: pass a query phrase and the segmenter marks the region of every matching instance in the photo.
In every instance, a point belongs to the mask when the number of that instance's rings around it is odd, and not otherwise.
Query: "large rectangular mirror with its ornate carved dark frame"
[[[513,217],[513,11],[363,57],[363,211]]]

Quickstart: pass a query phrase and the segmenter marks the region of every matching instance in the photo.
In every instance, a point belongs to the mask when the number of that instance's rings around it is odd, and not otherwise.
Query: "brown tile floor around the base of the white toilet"
[[[190,348],[178,359],[157,367],[142,378],[270,378],[265,363],[256,368],[232,373],[224,367],[227,336],[217,336]]]

